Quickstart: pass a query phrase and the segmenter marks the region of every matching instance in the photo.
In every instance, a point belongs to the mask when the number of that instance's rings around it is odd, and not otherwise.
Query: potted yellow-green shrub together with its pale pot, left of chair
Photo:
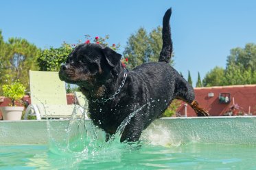
[[[24,107],[16,107],[15,104],[24,96],[25,86],[19,81],[15,81],[11,85],[3,85],[2,89],[3,96],[12,100],[10,107],[0,107],[3,120],[21,120]]]

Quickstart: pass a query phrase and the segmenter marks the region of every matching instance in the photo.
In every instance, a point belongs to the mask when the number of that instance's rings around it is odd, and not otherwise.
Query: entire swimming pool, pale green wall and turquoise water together
[[[1,122],[0,169],[256,169],[255,128],[256,117],[158,119],[124,144],[90,121]]]

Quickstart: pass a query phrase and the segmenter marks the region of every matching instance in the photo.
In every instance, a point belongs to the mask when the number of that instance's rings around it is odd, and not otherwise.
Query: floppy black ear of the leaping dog
[[[111,49],[109,47],[103,48],[103,53],[104,53],[104,55],[106,57],[106,61],[108,61],[108,64],[111,67],[117,66],[117,63],[121,59],[121,55],[119,53],[113,51],[113,49]]]

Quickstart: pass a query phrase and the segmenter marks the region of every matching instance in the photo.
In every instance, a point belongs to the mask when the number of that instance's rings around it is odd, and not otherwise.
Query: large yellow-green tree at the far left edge
[[[19,79],[28,88],[29,70],[37,70],[34,61],[39,53],[39,48],[23,38],[9,38],[4,42],[0,30],[0,84],[10,84]]]

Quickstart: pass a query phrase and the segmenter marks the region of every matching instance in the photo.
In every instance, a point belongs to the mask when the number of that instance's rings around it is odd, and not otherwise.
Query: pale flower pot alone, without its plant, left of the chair
[[[24,107],[0,107],[3,120],[21,120]]]

